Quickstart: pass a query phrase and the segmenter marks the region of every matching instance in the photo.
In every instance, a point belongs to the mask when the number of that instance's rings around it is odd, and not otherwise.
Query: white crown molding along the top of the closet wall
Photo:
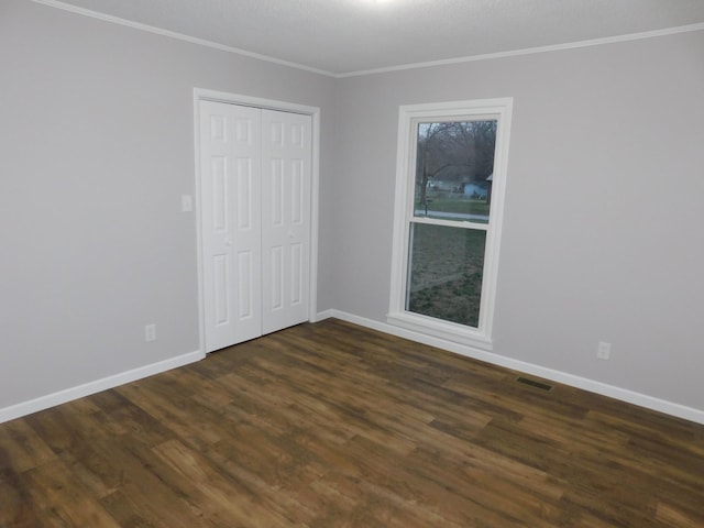
[[[305,64],[292,63],[289,61],[283,61],[280,58],[270,57],[268,55],[248,52],[246,50],[241,50],[239,47],[226,46],[224,44],[218,44],[217,42],[207,41],[205,38],[197,38],[195,36],[185,35],[183,33],[177,33],[175,31],[163,30],[154,25],[142,24],[140,22],[134,22],[132,20],[121,19],[119,16],[113,16],[111,14],[92,11],[90,9],[79,8],[77,6],[72,6],[70,3],[59,2],[58,0],[32,0],[32,1],[35,3],[42,3],[44,6],[48,6],[51,8],[68,11],[74,14],[80,14],[82,16],[89,16],[91,19],[101,20],[102,22],[110,22],[112,24],[124,25],[133,30],[146,31],[147,33],[154,33],[161,36],[167,36],[169,38],[176,38],[178,41],[188,42],[190,44],[197,44],[199,46],[212,47],[213,50],[219,50],[221,52],[228,52],[228,53],[233,53],[235,55],[242,55],[244,57],[256,58],[258,61],[264,61],[266,63],[278,64],[279,66],[288,66],[289,68],[302,69],[304,72],[310,72],[311,74],[324,75],[326,77],[336,77],[336,75],[331,74],[330,72],[306,66]]]

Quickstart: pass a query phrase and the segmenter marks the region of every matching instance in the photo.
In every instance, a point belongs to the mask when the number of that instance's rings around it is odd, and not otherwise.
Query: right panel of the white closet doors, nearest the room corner
[[[308,320],[311,118],[262,110],[262,333]]]

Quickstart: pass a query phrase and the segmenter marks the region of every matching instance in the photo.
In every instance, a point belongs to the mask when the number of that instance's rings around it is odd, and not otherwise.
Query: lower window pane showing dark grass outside
[[[406,310],[476,328],[486,231],[411,223]]]

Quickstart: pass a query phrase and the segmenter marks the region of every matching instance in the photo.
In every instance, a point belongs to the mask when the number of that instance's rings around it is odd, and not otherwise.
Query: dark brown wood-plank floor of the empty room
[[[704,426],[341,322],[0,425],[2,527],[704,527]]]

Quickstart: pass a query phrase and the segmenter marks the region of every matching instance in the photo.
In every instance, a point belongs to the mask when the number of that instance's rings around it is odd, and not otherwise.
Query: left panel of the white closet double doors
[[[261,111],[200,102],[206,351],[262,334]]]

